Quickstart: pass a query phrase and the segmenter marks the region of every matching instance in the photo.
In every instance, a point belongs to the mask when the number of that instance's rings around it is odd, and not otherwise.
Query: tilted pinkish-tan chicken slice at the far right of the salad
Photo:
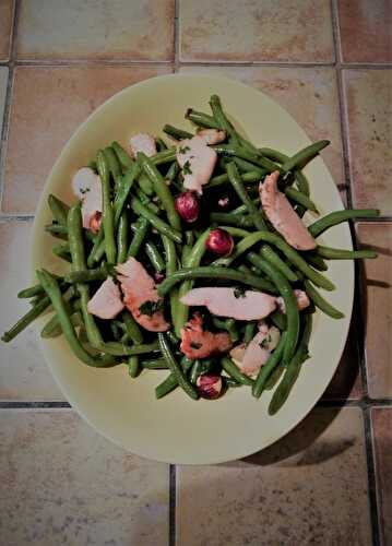
[[[311,250],[317,247],[317,242],[286,195],[278,191],[278,170],[275,170],[259,186],[260,199],[266,217],[288,245],[297,250]]]

